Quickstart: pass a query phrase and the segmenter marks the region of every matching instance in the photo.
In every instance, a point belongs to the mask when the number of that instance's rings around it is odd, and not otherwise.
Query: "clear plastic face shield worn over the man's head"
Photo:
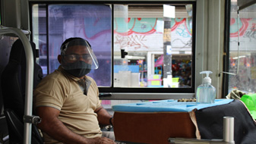
[[[84,54],[67,54],[68,49],[77,49],[74,46],[84,46],[86,53]],[[70,42],[65,43],[61,47],[62,50],[62,67],[65,70],[78,70],[78,69],[97,69],[99,63],[93,50],[90,48],[89,42],[84,39],[72,39]]]

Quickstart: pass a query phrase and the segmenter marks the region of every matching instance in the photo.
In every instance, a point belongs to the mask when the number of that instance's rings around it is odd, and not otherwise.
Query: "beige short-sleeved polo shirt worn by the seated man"
[[[77,84],[80,79],[68,74],[60,66],[36,86],[33,99],[35,107],[58,109],[59,120],[74,133],[93,138],[102,134],[94,112],[100,108],[99,90],[91,77],[86,76],[85,79],[91,82],[87,94]],[[45,137],[47,139],[48,136]]]

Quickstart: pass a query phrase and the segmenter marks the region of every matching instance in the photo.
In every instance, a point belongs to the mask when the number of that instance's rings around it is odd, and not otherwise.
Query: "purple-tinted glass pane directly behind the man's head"
[[[58,68],[57,55],[65,39],[87,39],[99,61],[90,77],[111,86],[111,8],[109,5],[49,5],[49,72]],[[104,76],[104,77],[103,77]]]

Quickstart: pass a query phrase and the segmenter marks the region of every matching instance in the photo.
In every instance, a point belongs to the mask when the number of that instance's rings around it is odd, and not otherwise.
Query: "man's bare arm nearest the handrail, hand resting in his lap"
[[[47,133],[53,139],[56,139],[60,142],[65,143],[115,143],[111,139],[107,139],[106,137],[96,137],[93,139],[85,138],[84,136],[80,136],[76,133],[73,133],[68,127],[58,119],[59,111],[56,108],[51,107],[38,107],[36,108],[36,114],[38,114],[42,121],[40,124],[37,124],[43,132]]]

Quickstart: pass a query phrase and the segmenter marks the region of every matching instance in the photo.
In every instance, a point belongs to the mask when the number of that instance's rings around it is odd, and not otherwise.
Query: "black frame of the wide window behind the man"
[[[48,5],[51,4],[108,4],[108,5],[115,5],[115,4],[191,4],[193,5],[193,23],[192,23],[192,30],[193,32],[196,32],[196,8],[197,3],[194,1],[182,1],[182,2],[171,2],[171,1],[150,1],[150,2],[138,2],[138,1],[128,1],[128,2],[70,2],[70,1],[63,1],[63,2],[40,2],[40,1],[30,1],[30,11],[32,11],[32,5],[34,4],[46,4],[46,8],[48,8]],[[47,10],[46,10],[47,11]],[[46,14],[46,17],[47,14]],[[48,23],[48,19],[46,19],[46,23]],[[113,7],[112,7],[112,23],[113,23]],[[47,33],[47,39],[49,39],[49,32],[48,32],[48,26],[46,26],[46,33]],[[30,30],[33,30],[32,26],[32,12],[30,12]],[[33,31],[32,31],[33,33]],[[113,87],[113,68],[114,68],[114,54],[113,54],[113,24],[112,24],[112,86],[110,87],[99,87],[100,91],[100,99],[191,99],[194,98],[194,92],[195,92],[195,69],[196,69],[196,61],[195,61],[195,55],[196,55],[196,33],[192,33],[192,63],[191,63],[191,87],[190,88],[125,88],[125,87]],[[49,40],[47,40],[49,42]],[[48,45],[48,43],[47,43]],[[49,55],[49,54],[47,54]],[[48,58],[48,57],[47,57]],[[49,60],[47,60],[47,65],[49,65]],[[48,72],[49,72],[49,67]],[[109,94],[111,96],[109,96]]]

